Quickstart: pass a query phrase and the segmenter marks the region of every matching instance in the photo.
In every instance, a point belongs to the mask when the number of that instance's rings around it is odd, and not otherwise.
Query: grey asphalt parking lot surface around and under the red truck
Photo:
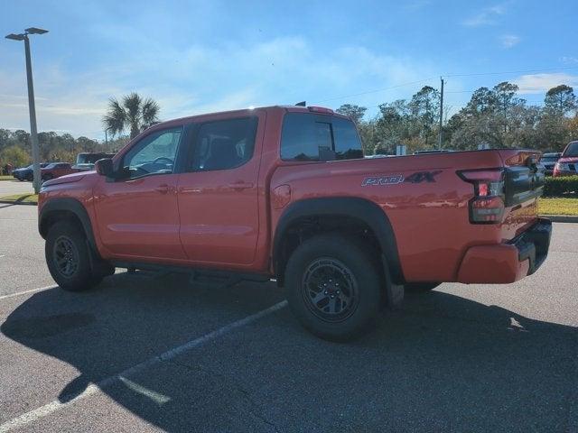
[[[51,287],[36,207],[0,204],[0,432],[573,433],[577,263],[578,225],[555,224],[534,276],[409,294],[375,332],[331,344],[272,282]]]

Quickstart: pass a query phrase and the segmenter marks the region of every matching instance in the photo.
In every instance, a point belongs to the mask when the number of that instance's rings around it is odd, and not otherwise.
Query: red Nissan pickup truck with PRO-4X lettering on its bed
[[[51,275],[85,290],[115,267],[275,279],[317,336],[344,340],[404,288],[536,272],[540,153],[364,158],[349,118],[271,106],[156,124],[113,159],[44,183]]]

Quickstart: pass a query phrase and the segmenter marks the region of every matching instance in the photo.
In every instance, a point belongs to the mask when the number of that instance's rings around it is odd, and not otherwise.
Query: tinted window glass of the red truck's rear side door
[[[227,170],[249,161],[255,149],[256,117],[201,124],[189,170]]]

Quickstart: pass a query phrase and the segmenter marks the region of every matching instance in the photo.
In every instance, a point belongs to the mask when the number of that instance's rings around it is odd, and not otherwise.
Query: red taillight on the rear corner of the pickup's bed
[[[474,197],[470,200],[470,222],[497,224],[504,215],[504,171],[464,170],[458,175],[473,185]]]

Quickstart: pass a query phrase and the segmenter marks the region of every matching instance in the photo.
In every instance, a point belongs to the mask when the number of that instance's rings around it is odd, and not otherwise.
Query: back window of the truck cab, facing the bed
[[[363,158],[353,122],[331,115],[288,113],[281,135],[284,161],[333,161]]]

